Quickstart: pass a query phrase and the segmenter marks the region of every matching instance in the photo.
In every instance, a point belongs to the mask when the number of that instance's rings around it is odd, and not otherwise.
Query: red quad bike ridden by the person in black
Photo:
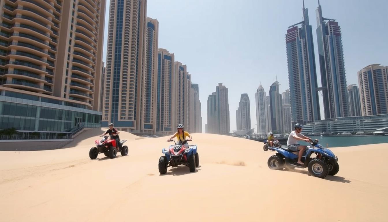
[[[90,159],[96,159],[98,154],[104,153],[105,156],[113,159],[116,158],[117,151],[121,152],[121,156],[126,156],[128,155],[128,147],[123,146],[125,142],[126,140],[121,140],[116,149],[116,140],[110,138],[110,136],[104,136],[102,140],[96,140],[94,142],[97,147],[90,148],[89,157]]]

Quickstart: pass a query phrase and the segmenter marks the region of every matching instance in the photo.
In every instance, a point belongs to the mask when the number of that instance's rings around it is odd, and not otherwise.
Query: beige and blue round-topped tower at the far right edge
[[[372,64],[357,72],[362,115],[388,113],[388,66]]]

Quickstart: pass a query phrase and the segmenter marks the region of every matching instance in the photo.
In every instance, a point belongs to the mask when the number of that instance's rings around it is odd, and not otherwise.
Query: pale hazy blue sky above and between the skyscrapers
[[[242,93],[251,103],[251,127],[256,128],[255,93],[260,83],[267,96],[277,80],[289,88],[285,34],[302,20],[302,0],[148,0],[147,16],[159,21],[159,48],[187,65],[199,84],[203,132],[207,98],[218,82],[229,89],[230,130],[236,130],[236,110]],[[357,71],[367,65],[388,65],[388,0],[320,0],[323,17],[341,26],[347,84],[357,84]],[[316,15],[317,0],[305,0],[314,35],[320,86]],[[105,45],[109,11],[107,0]],[[320,96],[321,97],[321,96]],[[323,115],[322,98],[321,116]]]

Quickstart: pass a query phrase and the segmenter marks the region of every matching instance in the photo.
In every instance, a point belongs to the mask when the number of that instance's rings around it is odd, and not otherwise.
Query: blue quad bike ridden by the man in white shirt
[[[331,150],[322,147],[318,142],[318,140],[310,140],[312,147],[307,146],[305,152],[303,152],[301,159],[304,163],[303,165],[297,163],[298,152],[293,152],[286,147],[271,147],[271,149],[277,151],[277,154],[269,157],[268,167],[272,170],[307,167],[310,175],[319,178],[325,178],[327,175],[336,175],[340,170],[338,157]],[[316,157],[311,157],[312,154],[315,154]]]

